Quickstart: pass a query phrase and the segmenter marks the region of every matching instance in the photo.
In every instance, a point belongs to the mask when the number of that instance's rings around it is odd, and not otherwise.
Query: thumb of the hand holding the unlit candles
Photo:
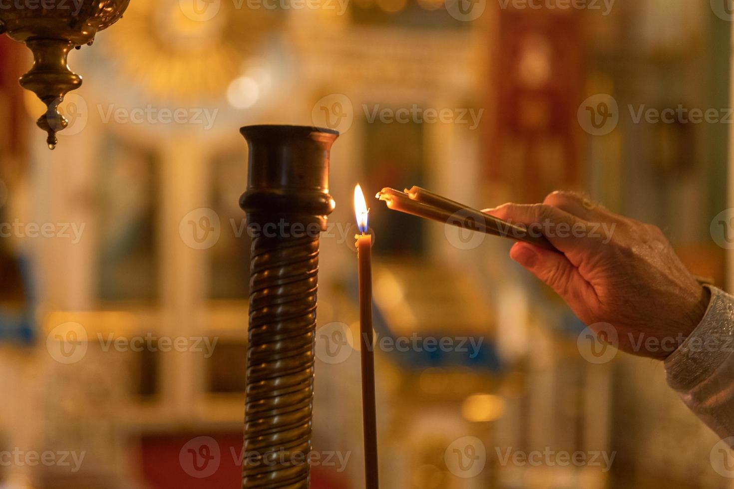
[[[589,299],[596,298],[592,285],[586,282],[564,254],[528,243],[515,243],[509,256],[538,279],[550,285],[577,315],[586,309],[585,305]],[[583,317],[580,319],[583,320]]]

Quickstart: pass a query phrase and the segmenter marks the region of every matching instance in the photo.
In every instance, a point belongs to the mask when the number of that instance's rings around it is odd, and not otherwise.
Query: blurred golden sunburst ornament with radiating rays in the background
[[[134,1],[124,25],[112,29],[101,46],[101,58],[114,64],[92,69],[112,75],[109,87],[118,98],[128,95],[132,81],[158,103],[217,106],[234,80],[257,70],[272,46],[266,43],[282,32],[285,22],[277,11],[238,4]]]

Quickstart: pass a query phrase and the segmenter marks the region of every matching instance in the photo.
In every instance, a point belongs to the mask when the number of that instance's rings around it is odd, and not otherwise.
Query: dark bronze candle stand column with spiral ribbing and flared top
[[[252,239],[243,488],[308,488],[319,232],[329,195],[333,130],[256,125],[247,212]]]

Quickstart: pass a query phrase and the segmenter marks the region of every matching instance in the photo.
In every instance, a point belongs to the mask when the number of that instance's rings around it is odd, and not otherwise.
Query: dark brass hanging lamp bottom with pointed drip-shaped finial
[[[72,48],[92,45],[97,32],[117,22],[130,0],[16,0],[0,5],[0,34],[33,52],[33,67],[21,76],[21,87],[34,92],[46,104],[38,120],[46,131],[48,148],[57,144],[56,133],[68,125],[59,103],[81,87],[81,76],[67,65]]]

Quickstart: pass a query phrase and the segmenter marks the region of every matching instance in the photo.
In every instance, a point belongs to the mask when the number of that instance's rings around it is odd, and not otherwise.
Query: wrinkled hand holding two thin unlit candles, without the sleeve
[[[700,323],[709,301],[658,227],[618,216],[577,194],[485,212],[540,230],[562,253],[515,243],[510,257],[553,287],[597,334],[609,323],[618,348],[665,359]]]

